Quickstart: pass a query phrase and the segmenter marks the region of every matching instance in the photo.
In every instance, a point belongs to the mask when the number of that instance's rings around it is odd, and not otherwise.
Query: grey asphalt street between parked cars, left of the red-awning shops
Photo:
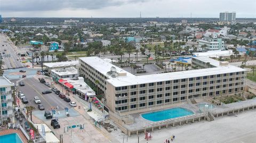
[[[34,97],[37,96],[41,100],[41,104],[44,105],[45,110],[50,110],[52,107],[59,106],[59,110],[64,110],[65,107],[70,108],[71,106],[69,103],[65,102],[63,99],[61,99],[58,95],[54,94],[52,92],[51,94],[42,94],[43,90],[51,90],[51,88],[45,86],[43,83],[39,82],[35,78],[28,78],[25,80],[22,80],[25,83],[25,86],[21,87],[18,86],[18,90],[23,92],[25,94],[26,98],[28,99],[29,103],[26,104],[26,106],[34,106],[36,110],[38,109],[38,104],[35,104]]]

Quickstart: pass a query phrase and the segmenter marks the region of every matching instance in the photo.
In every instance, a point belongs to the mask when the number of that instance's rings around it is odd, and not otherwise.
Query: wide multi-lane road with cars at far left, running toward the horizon
[[[4,46],[3,46],[4,45]],[[9,44],[6,37],[4,35],[0,35],[0,52],[3,56],[3,60],[5,62],[4,69],[11,69],[11,68],[21,68],[24,65],[17,61],[19,59],[17,52],[12,47],[13,45]],[[4,51],[6,49],[6,51]],[[5,54],[3,54],[5,52]]]

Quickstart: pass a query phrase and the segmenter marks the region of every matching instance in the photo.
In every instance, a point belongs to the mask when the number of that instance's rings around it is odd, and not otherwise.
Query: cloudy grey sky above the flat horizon
[[[256,0],[0,0],[3,17],[209,17],[235,11],[238,18],[256,18]]]

